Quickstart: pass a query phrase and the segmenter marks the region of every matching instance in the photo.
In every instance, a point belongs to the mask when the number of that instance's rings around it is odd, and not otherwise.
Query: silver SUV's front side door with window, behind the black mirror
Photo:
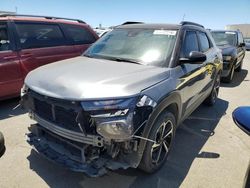
[[[188,58],[190,52],[200,51],[199,39],[195,30],[186,30],[180,50],[180,58]],[[180,63],[180,77],[177,89],[183,101],[183,116],[192,112],[200,103],[207,83],[206,62],[192,64]]]

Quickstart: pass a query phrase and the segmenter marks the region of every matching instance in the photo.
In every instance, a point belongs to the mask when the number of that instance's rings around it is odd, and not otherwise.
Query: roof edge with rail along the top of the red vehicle
[[[47,22],[47,23],[65,23],[73,25],[88,25],[85,22],[77,19],[59,18],[50,16],[29,16],[29,15],[0,15],[0,21],[33,21],[33,22]]]

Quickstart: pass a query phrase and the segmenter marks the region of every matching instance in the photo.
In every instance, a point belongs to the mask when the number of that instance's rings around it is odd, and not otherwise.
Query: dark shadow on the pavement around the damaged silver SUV
[[[220,157],[213,151],[201,151],[214,132],[228,102],[218,99],[214,107],[201,105],[177,129],[174,145],[165,165],[154,174],[137,169],[117,170],[99,178],[89,178],[72,172],[44,159],[34,150],[28,156],[30,169],[34,170],[50,187],[159,187],[159,182],[169,187],[179,187],[195,158]],[[66,178],[65,178],[66,177]],[[129,181],[128,181],[129,179]],[[160,187],[161,187],[160,186]]]

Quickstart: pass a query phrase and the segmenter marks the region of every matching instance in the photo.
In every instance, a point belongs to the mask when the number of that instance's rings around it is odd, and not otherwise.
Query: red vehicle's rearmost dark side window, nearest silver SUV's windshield
[[[95,36],[83,27],[65,24],[64,28],[75,45],[92,44],[96,41]]]

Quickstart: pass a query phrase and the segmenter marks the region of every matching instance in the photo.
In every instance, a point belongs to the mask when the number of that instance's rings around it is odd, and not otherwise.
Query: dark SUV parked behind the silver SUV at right
[[[234,71],[241,71],[245,57],[246,50],[242,33],[239,30],[214,30],[211,33],[216,45],[222,50],[222,81],[230,83]]]

